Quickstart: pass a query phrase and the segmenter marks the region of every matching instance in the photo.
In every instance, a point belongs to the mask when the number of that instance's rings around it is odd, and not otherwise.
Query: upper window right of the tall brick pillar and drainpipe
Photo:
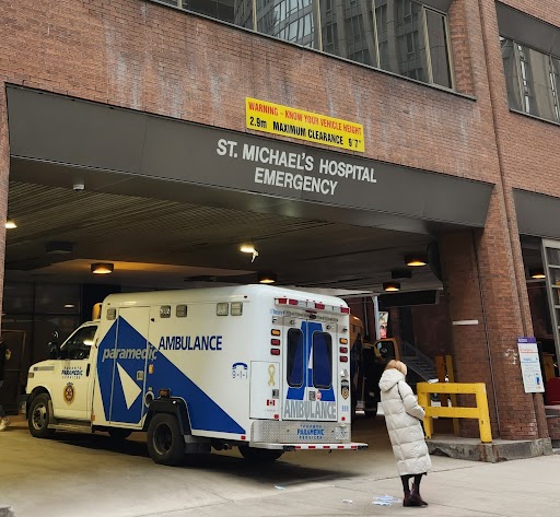
[[[508,38],[500,44],[510,107],[560,122],[559,58]]]

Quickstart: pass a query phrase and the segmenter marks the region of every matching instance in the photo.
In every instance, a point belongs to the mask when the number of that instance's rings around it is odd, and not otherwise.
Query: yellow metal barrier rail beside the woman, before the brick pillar
[[[433,418],[447,419],[476,419],[480,430],[482,443],[492,442],[490,414],[488,412],[488,397],[485,383],[418,383],[418,403],[425,410],[424,432],[431,438],[433,434]],[[476,408],[448,408],[430,406],[430,393],[475,395]]]

